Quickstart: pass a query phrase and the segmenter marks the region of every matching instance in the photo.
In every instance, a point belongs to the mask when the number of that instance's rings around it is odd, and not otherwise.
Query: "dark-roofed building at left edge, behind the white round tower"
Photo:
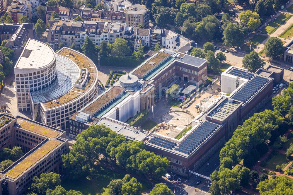
[[[0,23],[0,41],[8,40],[5,46],[13,49],[16,58],[20,56],[24,43],[34,37],[33,23]]]

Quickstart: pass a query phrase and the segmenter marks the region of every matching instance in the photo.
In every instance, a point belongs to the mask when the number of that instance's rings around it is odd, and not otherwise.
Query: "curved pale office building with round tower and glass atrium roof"
[[[86,66],[80,67],[80,61]],[[14,67],[19,111],[43,124],[68,129],[69,115],[98,96],[95,64],[73,49],[54,50],[29,39]]]

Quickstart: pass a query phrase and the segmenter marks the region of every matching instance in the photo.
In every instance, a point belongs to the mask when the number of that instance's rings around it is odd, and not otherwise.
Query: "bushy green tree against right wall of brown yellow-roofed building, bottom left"
[[[57,173],[41,173],[40,177],[34,176],[31,190],[38,195],[45,195],[47,189],[54,189],[61,184],[60,175]]]

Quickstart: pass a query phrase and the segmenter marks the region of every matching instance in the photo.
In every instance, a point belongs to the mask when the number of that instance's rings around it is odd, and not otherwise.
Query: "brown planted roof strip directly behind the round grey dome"
[[[157,55],[154,55],[154,57],[151,57],[149,61],[144,62],[142,66],[139,66],[139,68],[135,70],[134,73],[143,76],[168,56],[170,56],[170,54],[159,52]]]

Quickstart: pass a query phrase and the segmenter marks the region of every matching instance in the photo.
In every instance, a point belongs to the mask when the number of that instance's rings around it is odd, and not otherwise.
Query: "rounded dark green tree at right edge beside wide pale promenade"
[[[278,37],[269,37],[265,42],[265,55],[271,58],[280,58],[284,53],[284,47],[281,39]]]

